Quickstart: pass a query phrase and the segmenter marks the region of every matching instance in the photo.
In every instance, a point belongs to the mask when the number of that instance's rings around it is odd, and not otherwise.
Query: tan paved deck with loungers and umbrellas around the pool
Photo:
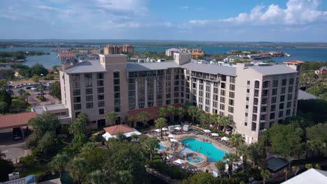
[[[172,134],[170,132],[166,132],[165,134],[163,134],[163,139],[161,140],[163,146],[166,146],[167,151],[164,151],[166,153],[168,153],[168,155],[173,155],[173,158],[170,158],[170,162],[173,162],[174,160],[177,160],[178,158],[182,159],[179,155],[180,151],[182,151],[182,149],[184,149],[184,146],[182,146],[181,141],[182,139],[189,139],[189,138],[193,138],[193,139],[198,139],[199,141],[203,141],[204,140],[208,140],[208,142],[211,142],[213,145],[215,145],[217,148],[219,148],[222,151],[226,151],[228,153],[236,153],[236,148],[230,148],[228,146],[225,146],[224,144],[219,143],[219,141],[212,139],[210,137],[207,137],[206,135],[196,135],[193,132],[183,132],[182,135],[176,134],[176,132],[173,133],[173,135],[175,135],[174,139],[177,139],[177,145],[175,147],[175,149],[170,148],[170,138],[168,137],[168,134]],[[150,137],[157,137],[153,134],[148,134],[147,136]],[[197,168],[198,170],[201,171],[205,171],[206,169],[209,170],[209,173],[212,173],[212,170],[215,169],[215,162],[209,162],[209,164],[205,167],[199,167]]]

